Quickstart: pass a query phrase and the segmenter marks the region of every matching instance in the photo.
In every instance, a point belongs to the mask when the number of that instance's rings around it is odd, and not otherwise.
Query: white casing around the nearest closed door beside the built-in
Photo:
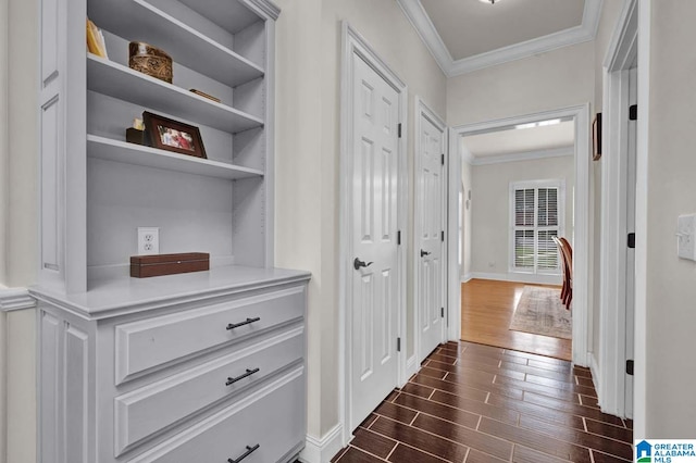
[[[348,445],[351,438],[350,410],[351,410],[351,378],[350,365],[352,353],[352,331],[348,310],[352,304],[351,278],[352,278],[352,229],[351,216],[351,179],[352,179],[352,112],[353,112],[353,86],[352,86],[352,58],[358,55],[364,60],[388,85],[398,93],[398,113],[401,124],[401,137],[397,143],[398,159],[398,207],[397,228],[401,230],[401,245],[398,246],[398,314],[397,331],[401,338],[401,350],[397,352],[397,384],[402,386],[407,380],[406,352],[408,339],[406,329],[406,243],[407,234],[407,207],[408,207],[408,166],[407,153],[407,121],[408,121],[408,86],[389,68],[380,58],[368,41],[350,26],[347,21],[341,23],[343,57],[340,70],[340,196],[339,196],[339,272],[338,272],[338,402],[339,423],[341,425],[343,446]],[[396,342],[396,340],[395,340]]]

